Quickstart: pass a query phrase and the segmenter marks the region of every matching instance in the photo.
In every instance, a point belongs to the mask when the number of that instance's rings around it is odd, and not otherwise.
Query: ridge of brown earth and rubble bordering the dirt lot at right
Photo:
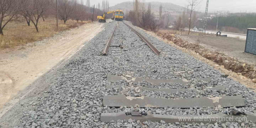
[[[161,33],[159,31],[157,34],[163,39],[172,41],[175,45],[178,45],[179,47],[192,50],[195,53],[201,55],[202,57],[223,66],[225,69],[241,74],[249,79],[252,79],[252,81],[256,83],[256,66],[253,64],[244,63],[234,57],[226,56],[223,53],[211,51],[201,46],[198,42],[194,43],[184,41],[182,40],[182,38],[179,38],[170,32]]]

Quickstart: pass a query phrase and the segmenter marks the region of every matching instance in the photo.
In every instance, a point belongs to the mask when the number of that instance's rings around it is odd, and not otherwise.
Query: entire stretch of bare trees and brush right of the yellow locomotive
[[[156,18],[151,11],[150,3],[148,7],[145,8],[145,0],[134,0],[134,8],[126,15],[125,19],[131,21],[138,27],[151,31],[157,31],[159,28],[165,29],[172,23],[175,30],[184,31],[186,26],[191,28],[197,22],[198,17],[195,10],[201,1],[202,0],[188,0],[188,8],[184,8],[183,14],[173,20],[174,18],[172,18],[170,14],[163,14],[162,5],[159,6],[159,18]]]

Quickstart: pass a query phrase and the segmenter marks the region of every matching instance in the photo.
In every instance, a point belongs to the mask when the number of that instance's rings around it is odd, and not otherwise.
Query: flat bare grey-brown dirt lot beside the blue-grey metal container
[[[237,58],[239,61],[256,65],[256,56],[245,53],[246,40],[230,37],[177,35],[188,42],[196,42],[205,48]]]

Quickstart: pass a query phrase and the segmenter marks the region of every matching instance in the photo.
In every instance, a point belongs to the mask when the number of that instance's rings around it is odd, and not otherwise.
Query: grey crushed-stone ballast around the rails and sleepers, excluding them
[[[221,77],[219,71],[195,58],[182,53],[170,45],[159,41],[142,29],[132,26],[145,38],[151,41],[162,53],[157,56],[131,29],[122,22],[118,22],[111,45],[122,45],[124,48],[110,47],[109,55],[102,56],[104,44],[108,40],[117,21],[104,23],[105,28],[97,34],[88,45],[83,47],[67,63],[57,68],[55,79],[47,81],[49,86],[36,97],[28,97],[26,101],[19,102],[22,113],[1,118],[3,127],[79,127],[79,128],[118,128],[118,127],[256,127],[253,122],[216,122],[215,124],[174,123],[167,124],[164,121],[135,121],[118,120],[117,122],[101,122],[101,113],[117,113],[125,110],[124,107],[115,108],[102,106],[104,95],[120,95],[157,98],[197,98],[197,97],[221,97],[225,95],[241,95],[246,104],[244,110],[253,113],[256,109],[255,93],[229,78]],[[127,22],[128,23],[128,22]],[[171,53],[171,54],[166,54]],[[158,73],[169,75],[141,75],[134,72]],[[109,82],[107,75],[118,75],[124,79],[118,82]],[[141,81],[133,83],[135,77],[147,79],[186,79],[186,85],[176,83],[163,83],[159,86]],[[197,78],[212,77],[205,82]],[[106,88],[107,85],[123,85],[130,89]],[[207,90],[207,87],[227,86],[223,90]],[[195,88],[186,92],[164,93],[157,91],[137,90],[136,86],[150,88]],[[26,109],[22,109],[26,108]],[[16,107],[16,109],[18,109]],[[139,108],[132,108],[138,111]],[[162,115],[211,115],[221,113],[222,107],[216,108],[150,108],[154,114]],[[14,111],[14,110],[10,110]],[[11,113],[11,112],[10,112]],[[8,122],[7,117],[13,117],[16,122]]]

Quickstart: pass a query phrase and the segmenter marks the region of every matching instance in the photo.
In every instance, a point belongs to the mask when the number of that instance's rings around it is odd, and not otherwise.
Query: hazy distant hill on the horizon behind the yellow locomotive
[[[173,3],[161,3],[161,2],[146,2],[145,7],[147,8],[148,4],[151,3],[151,9],[152,12],[154,12],[156,15],[159,13],[159,6],[162,4],[163,6],[163,14],[164,13],[182,13],[184,11],[184,7],[175,5]],[[122,2],[118,3],[115,6],[110,7],[110,10],[113,9],[122,9],[124,13],[129,12],[130,10],[133,10],[133,2]]]

